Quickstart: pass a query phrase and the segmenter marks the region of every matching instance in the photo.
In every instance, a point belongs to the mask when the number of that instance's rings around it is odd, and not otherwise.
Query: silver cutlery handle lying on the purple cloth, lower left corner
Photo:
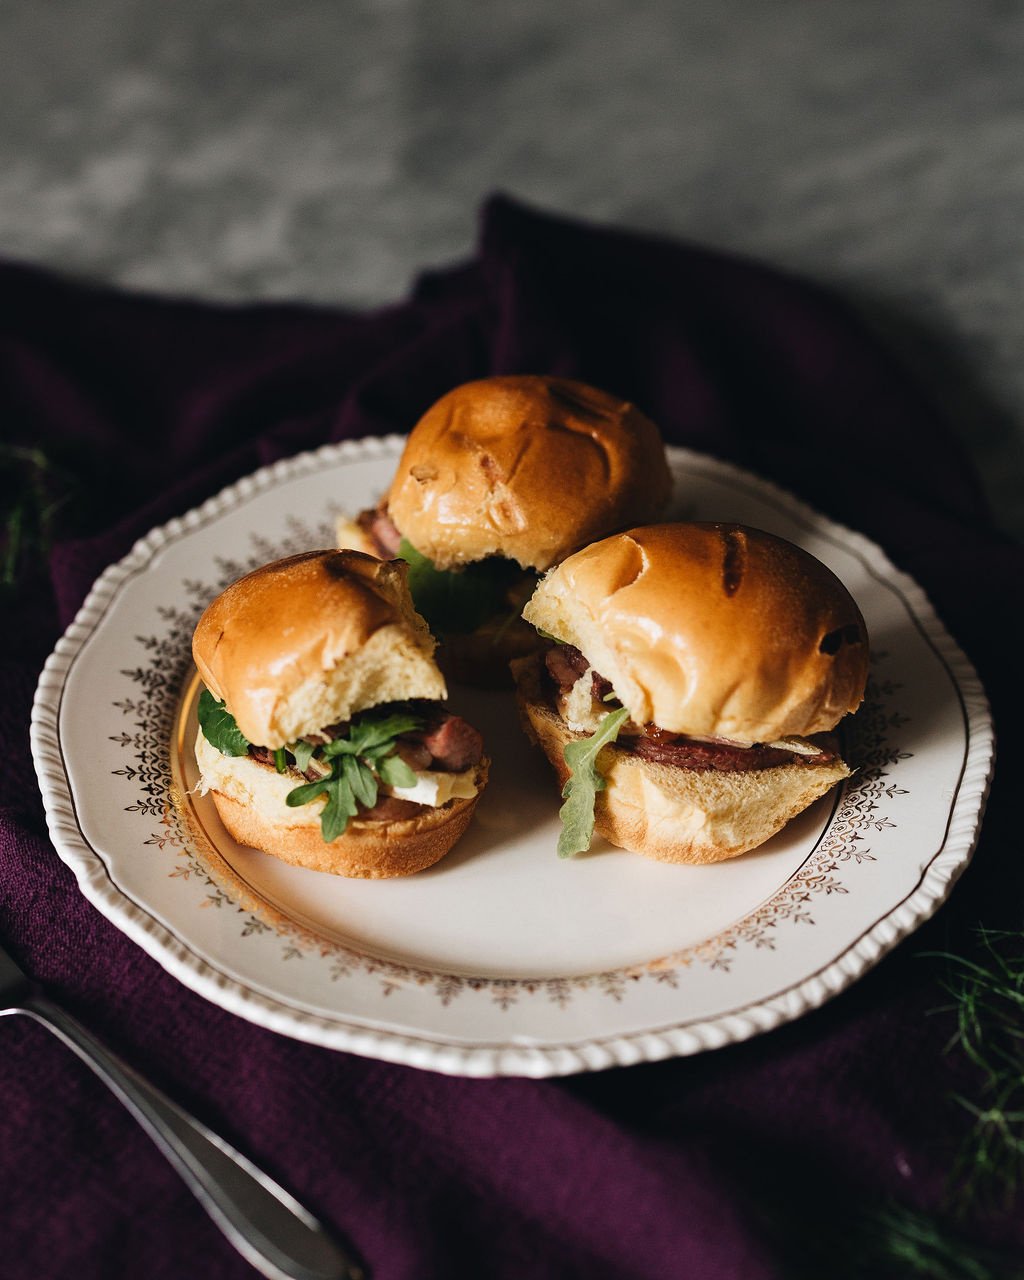
[[[145,1080],[46,996],[18,1006],[60,1037],[120,1098],[224,1235],[271,1280],[369,1280],[284,1188]]]

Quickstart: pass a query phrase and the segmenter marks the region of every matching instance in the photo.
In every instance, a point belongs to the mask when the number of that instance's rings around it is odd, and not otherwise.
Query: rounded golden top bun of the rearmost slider
[[[504,556],[545,570],[657,513],[672,480],[654,424],[566,378],[456,387],[412,429],[388,513],[439,568]]]

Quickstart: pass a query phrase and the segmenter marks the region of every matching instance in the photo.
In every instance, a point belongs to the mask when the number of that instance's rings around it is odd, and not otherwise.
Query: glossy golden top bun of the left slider
[[[209,605],[192,655],[250,742],[279,748],[379,703],[447,696],[406,573],[361,552],[306,552]]]

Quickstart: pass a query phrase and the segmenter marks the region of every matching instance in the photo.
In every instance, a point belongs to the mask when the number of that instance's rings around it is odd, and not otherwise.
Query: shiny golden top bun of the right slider
[[[639,724],[773,742],[855,710],[868,632],[813,556],[742,525],[632,529],[539,584],[524,617],[580,649]]]

